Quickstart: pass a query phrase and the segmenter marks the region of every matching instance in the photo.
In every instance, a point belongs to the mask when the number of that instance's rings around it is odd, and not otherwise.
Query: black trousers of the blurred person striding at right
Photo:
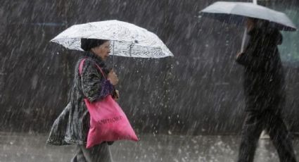
[[[247,111],[242,128],[241,145],[238,152],[238,162],[252,162],[255,149],[262,130],[267,130],[279,154],[281,162],[295,162],[295,154],[291,138],[281,113],[265,111]]]

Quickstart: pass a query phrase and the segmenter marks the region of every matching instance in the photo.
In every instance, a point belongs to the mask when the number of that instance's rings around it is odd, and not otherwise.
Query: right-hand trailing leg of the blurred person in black
[[[267,130],[281,162],[295,162],[295,154],[290,135],[280,113],[269,113]]]

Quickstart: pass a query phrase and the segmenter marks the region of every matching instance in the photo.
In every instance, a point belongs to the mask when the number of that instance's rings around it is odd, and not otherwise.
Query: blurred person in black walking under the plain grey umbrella
[[[248,18],[249,42],[236,62],[244,67],[246,119],[242,127],[238,162],[252,162],[262,130],[266,130],[279,160],[295,162],[291,137],[281,116],[284,108],[284,72],[277,45],[282,35],[269,22]]]

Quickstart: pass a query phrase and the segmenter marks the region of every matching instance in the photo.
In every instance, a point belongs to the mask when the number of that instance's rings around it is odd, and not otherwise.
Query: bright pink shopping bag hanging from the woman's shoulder
[[[85,58],[79,64],[80,75],[84,61]],[[105,77],[99,66],[98,69]],[[127,116],[111,95],[106,96],[101,101],[90,102],[88,99],[84,99],[84,102],[90,114],[87,149],[104,141],[113,142],[120,139],[138,141]]]

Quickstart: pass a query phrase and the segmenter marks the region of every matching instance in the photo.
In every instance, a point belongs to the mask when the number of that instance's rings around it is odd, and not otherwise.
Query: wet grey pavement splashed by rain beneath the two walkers
[[[75,146],[46,145],[46,134],[0,132],[0,162],[70,161]],[[139,142],[119,141],[111,147],[113,161],[231,162],[238,154],[238,136],[141,135]],[[299,159],[299,139],[293,141]],[[260,139],[255,162],[279,162],[269,139]]]

